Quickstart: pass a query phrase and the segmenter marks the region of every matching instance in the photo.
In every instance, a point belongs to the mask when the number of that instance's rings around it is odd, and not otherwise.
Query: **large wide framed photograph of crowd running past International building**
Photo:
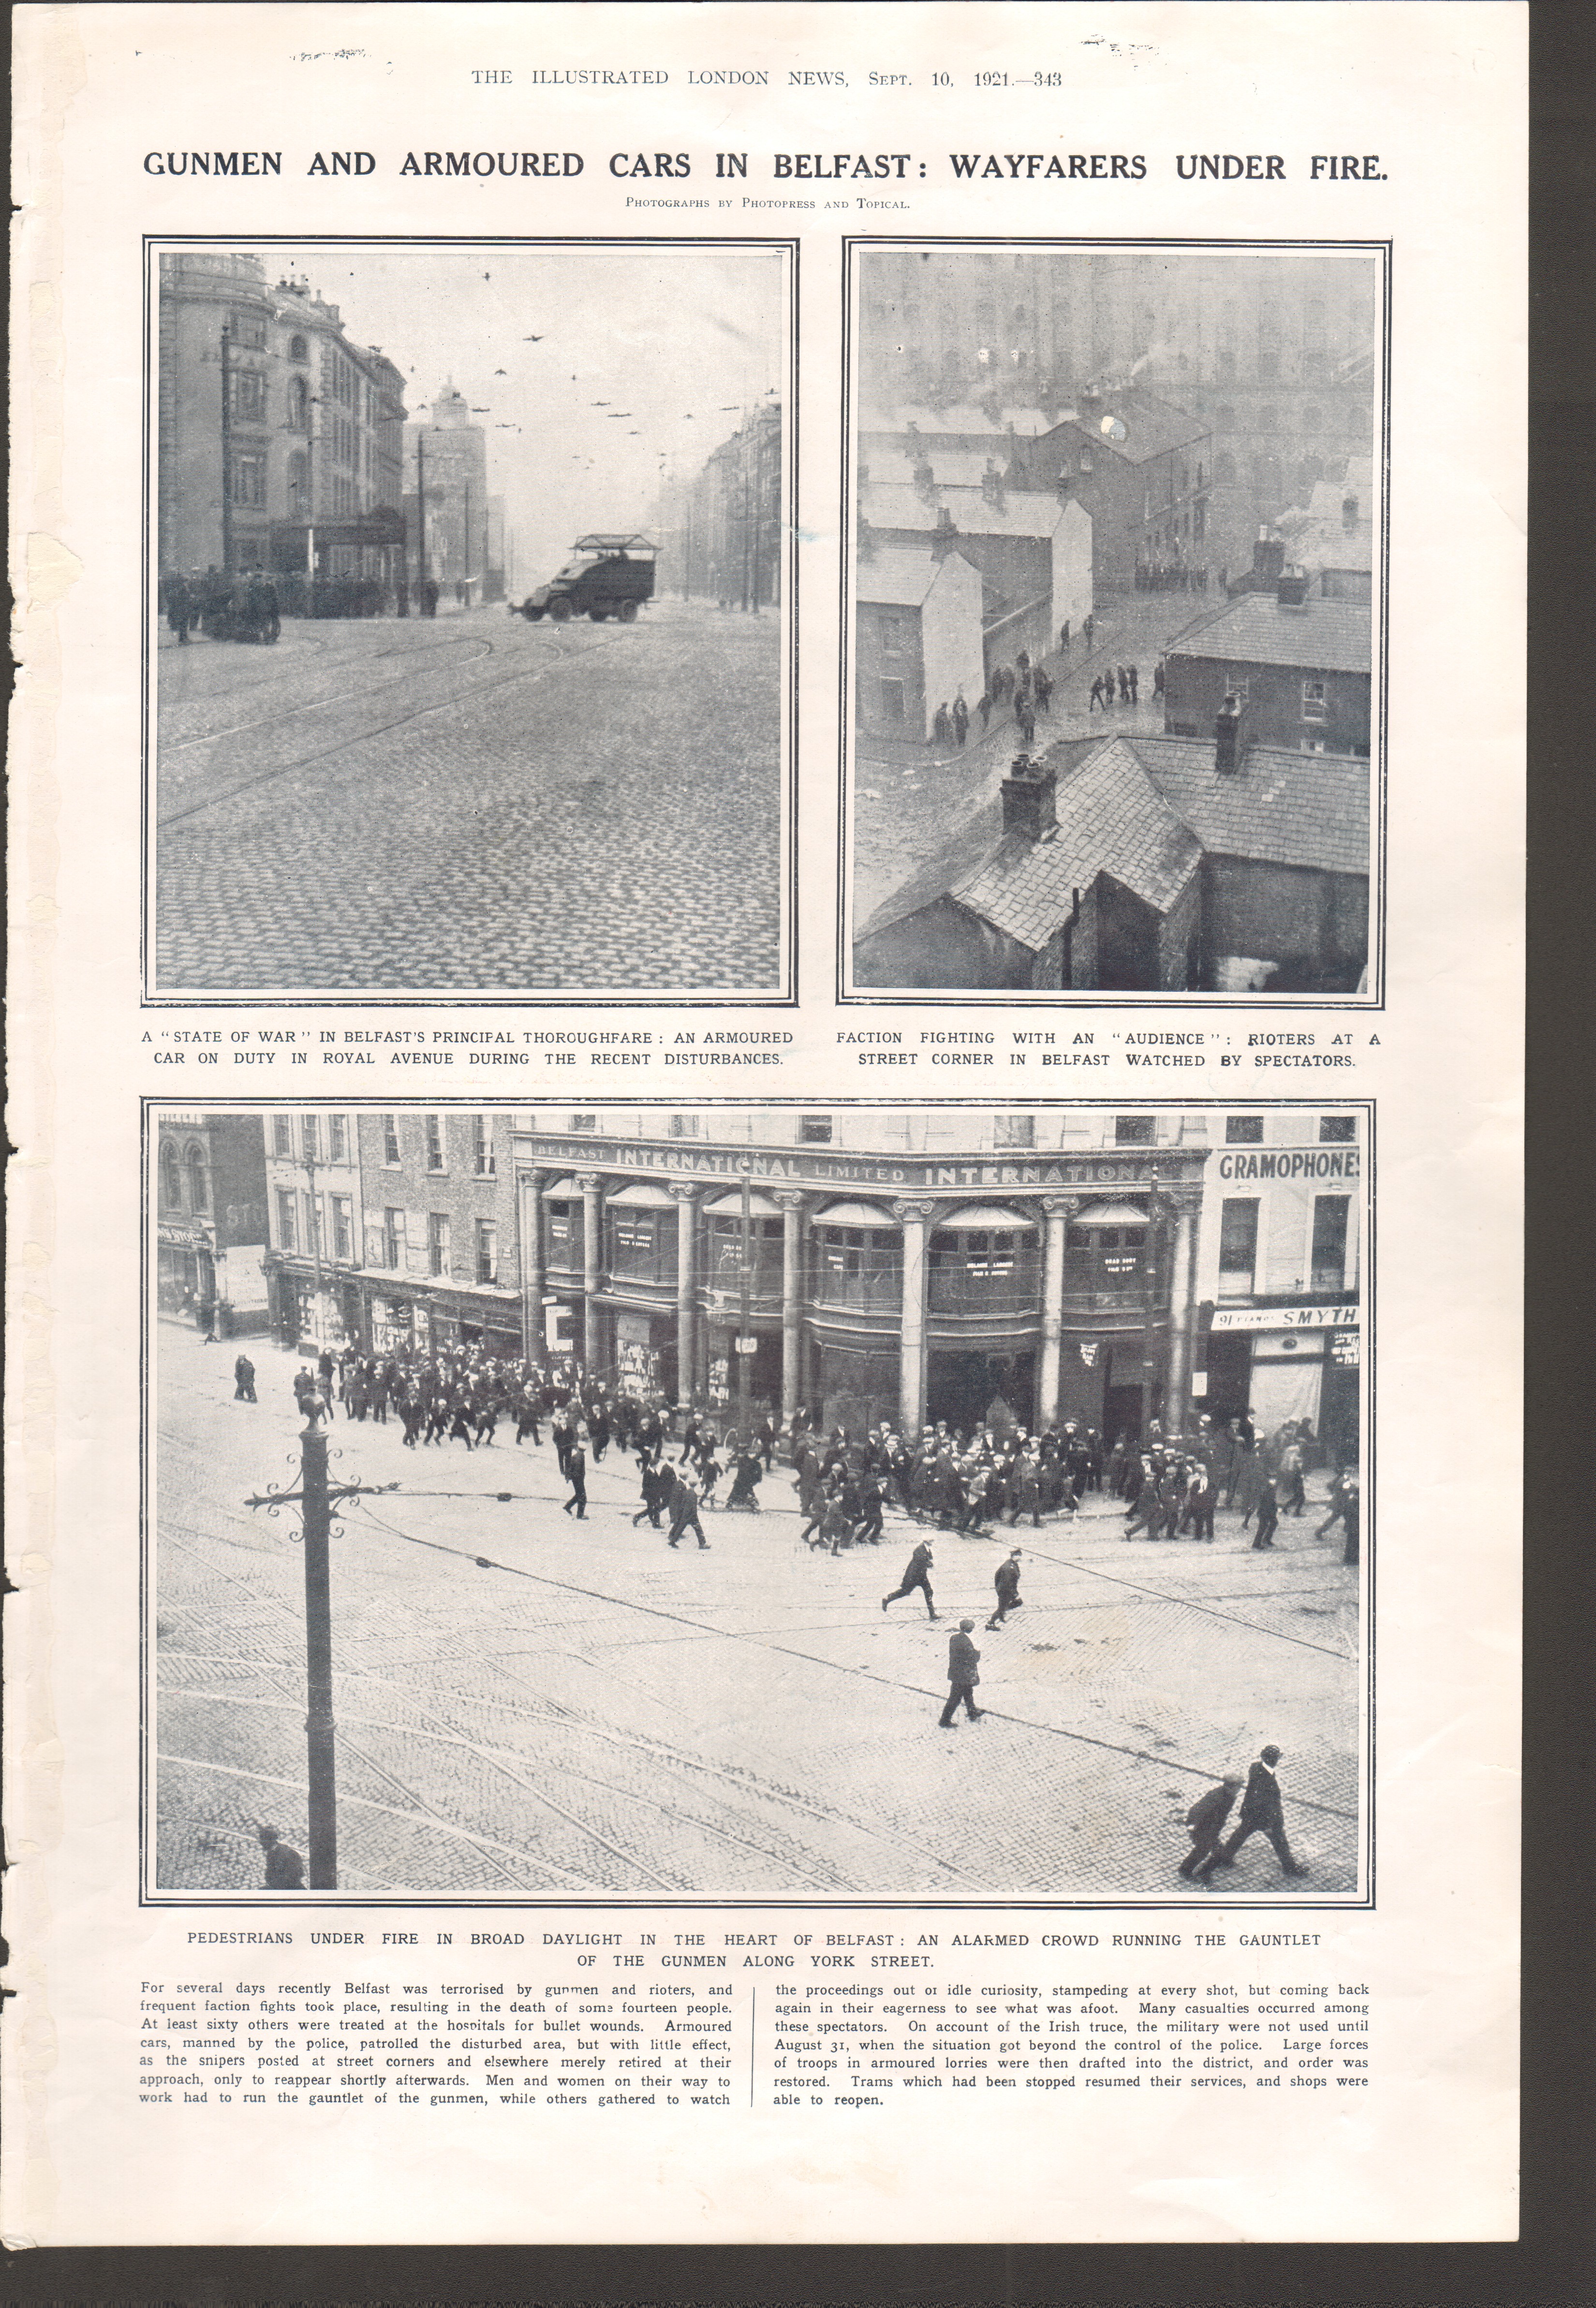
[[[145,1122],[145,1899],[1370,1897],[1368,1106]]]

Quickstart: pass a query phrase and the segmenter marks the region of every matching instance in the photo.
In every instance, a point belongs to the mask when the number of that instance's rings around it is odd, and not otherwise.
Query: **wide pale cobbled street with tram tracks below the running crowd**
[[[254,1828],[304,1851],[298,1359],[161,1320],[155,1341],[155,1629],[161,1890],[261,1886]],[[1126,1544],[1116,1503],[1075,1523],[936,1535],[936,1611],[883,1613],[916,1526],[879,1549],[798,1544],[777,1461],[761,1514],[706,1516],[710,1551],[634,1530],[611,1452],[586,1523],[554,1449],[406,1449],[334,1422],[339,1883],[443,1897],[1169,1899],[1185,1807],[1266,1740],[1285,1749],[1285,1886],[1252,1837],[1213,1906],[1356,1890],[1358,1574],[1310,1509],[1280,1551],[1236,1516],[1213,1546]],[[510,1491],[507,1500],[494,1493]],[[443,1493],[443,1496],[427,1496]],[[1024,1546],[1024,1611],[980,1632]],[[983,1722],[936,1726],[948,1634],[976,1620]],[[1204,1895],[1197,1895],[1204,1897]]]

